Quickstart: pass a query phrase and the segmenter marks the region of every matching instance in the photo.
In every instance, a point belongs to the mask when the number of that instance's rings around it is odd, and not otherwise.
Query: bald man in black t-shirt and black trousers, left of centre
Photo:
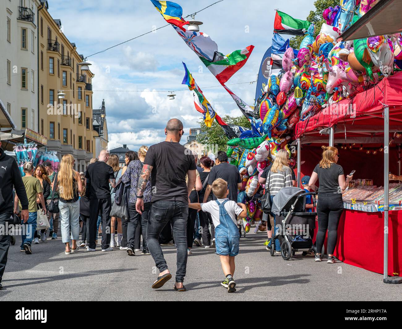
[[[90,216],[89,216],[89,246],[88,251],[95,251],[96,247],[96,222],[98,214],[102,218],[102,251],[113,250],[110,247],[111,239],[111,217],[112,199],[110,196],[109,181],[112,187],[116,186],[115,174],[113,168],[106,161],[109,159],[107,150],[100,151],[99,161],[91,163],[86,169],[86,192],[89,198]]]

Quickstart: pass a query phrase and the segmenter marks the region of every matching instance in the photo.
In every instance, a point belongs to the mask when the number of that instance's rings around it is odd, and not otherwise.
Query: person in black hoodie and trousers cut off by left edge
[[[21,219],[26,223],[29,217],[28,197],[21,173],[14,158],[4,153],[0,141],[0,225],[4,227],[13,213],[13,186],[18,198],[21,200]],[[3,288],[1,280],[6,269],[9,247],[10,235],[0,235],[0,289]]]

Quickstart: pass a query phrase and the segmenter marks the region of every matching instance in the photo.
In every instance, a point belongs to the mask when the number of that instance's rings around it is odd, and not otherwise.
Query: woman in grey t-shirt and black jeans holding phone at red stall
[[[322,146],[322,159],[314,168],[308,185],[314,191],[317,180],[318,188],[318,232],[316,236],[316,250],[321,251],[324,238],[328,229],[328,261],[335,263],[334,250],[338,239],[338,224],[343,212],[342,191],[347,188],[352,176],[347,176],[343,168],[337,164],[339,160],[338,149],[333,146]],[[316,253],[315,261],[321,262],[321,253]]]

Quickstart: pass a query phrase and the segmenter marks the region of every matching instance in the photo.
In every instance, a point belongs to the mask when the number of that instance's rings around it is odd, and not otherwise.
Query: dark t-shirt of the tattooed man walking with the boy
[[[151,172],[151,202],[182,201],[188,203],[186,175],[196,170],[193,153],[180,143],[162,142],[151,145],[144,165],[153,167]]]

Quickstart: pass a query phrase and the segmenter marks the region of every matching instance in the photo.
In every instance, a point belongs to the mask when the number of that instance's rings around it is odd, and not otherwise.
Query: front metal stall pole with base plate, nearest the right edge
[[[384,108],[384,283],[402,283],[400,276],[388,276],[388,210],[389,207],[389,157],[390,157],[390,108]],[[386,147],[386,149],[385,149]],[[387,150],[387,151],[385,151]]]

